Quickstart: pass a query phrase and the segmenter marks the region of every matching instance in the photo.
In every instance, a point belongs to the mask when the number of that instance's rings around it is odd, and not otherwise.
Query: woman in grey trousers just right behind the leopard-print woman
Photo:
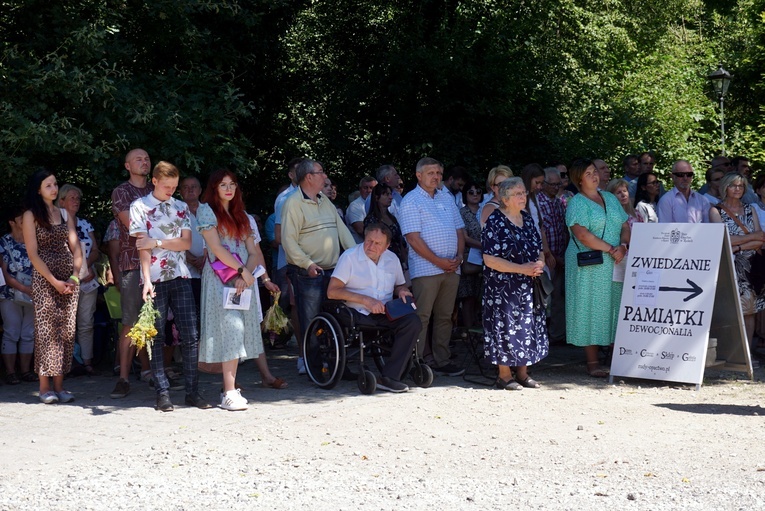
[[[96,313],[98,280],[93,264],[98,260],[99,251],[93,226],[77,216],[82,202],[82,190],[66,184],[59,188],[56,206],[65,209],[74,218],[77,237],[83,249],[84,259],[80,272],[80,297],[77,302],[77,343],[80,345],[82,361],[89,376],[99,373],[93,368],[93,315]]]

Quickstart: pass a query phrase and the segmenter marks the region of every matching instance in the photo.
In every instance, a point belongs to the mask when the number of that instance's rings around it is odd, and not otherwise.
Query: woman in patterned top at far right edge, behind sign
[[[720,202],[709,209],[709,221],[724,223],[730,234],[744,326],[749,342],[754,344],[755,314],[765,310],[761,275],[765,268],[754,268],[752,262],[755,251],[765,243],[765,233],[754,208],[741,202],[744,192],[746,178],[738,173],[727,174],[720,183]]]

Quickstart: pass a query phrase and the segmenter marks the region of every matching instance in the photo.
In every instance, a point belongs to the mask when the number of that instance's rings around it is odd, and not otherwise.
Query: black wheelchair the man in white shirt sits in
[[[322,312],[308,324],[303,340],[308,377],[317,386],[331,389],[347,374],[349,359],[358,356],[359,391],[373,394],[377,378],[365,364],[364,357],[371,356],[377,369],[382,370],[385,357],[390,354],[392,334],[388,328],[357,326],[351,309],[344,302],[324,300]],[[412,350],[412,359],[404,374],[407,373],[418,387],[427,388],[433,383],[433,370],[417,358],[416,350]]]

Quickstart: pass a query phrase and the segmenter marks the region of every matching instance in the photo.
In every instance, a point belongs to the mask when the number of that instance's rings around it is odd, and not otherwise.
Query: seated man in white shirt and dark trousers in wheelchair
[[[356,325],[390,328],[393,331],[390,358],[381,371],[377,388],[406,392],[409,387],[401,378],[412,357],[422,324],[416,314],[407,314],[394,321],[385,315],[385,304],[394,296],[405,302],[412,300],[401,263],[388,250],[390,240],[391,232],[384,224],[367,226],[364,229],[364,243],[346,250],[337,261],[327,288],[327,298],[344,300]]]

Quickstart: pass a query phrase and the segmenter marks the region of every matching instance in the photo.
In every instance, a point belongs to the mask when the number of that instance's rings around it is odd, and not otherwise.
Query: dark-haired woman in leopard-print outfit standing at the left
[[[40,376],[40,401],[68,403],[64,375],[72,367],[77,299],[82,266],[74,217],[57,208],[56,176],[40,170],[29,178],[27,211],[22,232],[32,262],[32,301],[35,309],[35,371]],[[53,380],[53,390],[51,381]]]

